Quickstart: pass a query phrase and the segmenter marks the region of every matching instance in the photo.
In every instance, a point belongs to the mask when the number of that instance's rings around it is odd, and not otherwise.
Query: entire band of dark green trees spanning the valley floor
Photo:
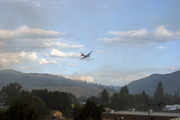
[[[127,86],[123,86],[118,93],[112,96],[104,89],[99,96],[80,97],[86,102],[84,107],[78,104],[78,99],[71,93],[52,92],[47,89],[28,92],[22,90],[22,86],[18,83],[10,83],[3,87],[0,96],[5,99],[5,105],[10,106],[6,111],[0,111],[0,120],[11,120],[12,118],[14,120],[38,120],[39,115],[49,115],[50,110],[59,110],[65,115],[73,111],[74,120],[100,120],[104,107],[114,110],[128,110],[129,108],[147,110],[150,103],[163,102],[163,105],[159,107],[162,109],[167,104],[180,102],[179,92],[175,91],[174,95],[164,93],[161,81],[157,84],[154,96],[147,95],[145,91],[131,95]],[[71,107],[72,103],[75,104],[74,109]]]

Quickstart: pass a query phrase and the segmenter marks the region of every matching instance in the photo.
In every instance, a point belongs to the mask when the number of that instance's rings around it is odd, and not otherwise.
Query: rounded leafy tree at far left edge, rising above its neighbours
[[[20,90],[22,86],[19,83],[10,83],[6,87],[3,87],[0,91],[0,96],[5,97],[5,103],[10,104],[12,100],[20,96]]]

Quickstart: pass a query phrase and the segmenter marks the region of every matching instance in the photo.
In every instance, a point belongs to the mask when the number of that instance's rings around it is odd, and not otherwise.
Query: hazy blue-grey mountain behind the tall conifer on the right
[[[163,84],[164,93],[174,95],[175,91],[180,91],[180,71],[170,74],[152,74],[129,83],[127,87],[130,94],[142,93],[144,90],[148,95],[154,95],[159,81]]]

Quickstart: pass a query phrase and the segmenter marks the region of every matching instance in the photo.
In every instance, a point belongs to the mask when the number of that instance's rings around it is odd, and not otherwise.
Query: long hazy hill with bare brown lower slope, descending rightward
[[[48,89],[50,91],[70,92],[76,97],[97,96],[104,86],[82,81],[66,79],[62,76],[38,73],[22,73],[12,69],[0,70],[0,90],[9,83],[19,83],[23,89]],[[112,89],[107,89],[113,94]]]

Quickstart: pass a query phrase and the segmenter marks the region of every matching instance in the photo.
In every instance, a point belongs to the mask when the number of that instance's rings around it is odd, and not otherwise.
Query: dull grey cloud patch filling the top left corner
[[[35,6],[30,0],[0,0],[0,24],[5,29],[19,26],[47,27],[46,12]]]

